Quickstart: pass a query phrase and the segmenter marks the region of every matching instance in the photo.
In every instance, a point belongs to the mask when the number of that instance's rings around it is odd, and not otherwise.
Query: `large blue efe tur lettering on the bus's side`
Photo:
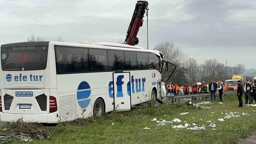
[[[117,97],[123,97],[124,94],[123,94],[123,87],[122,85],[124,84],[124,81],[122,81],[124,78],[124,75],[119,75],[117,76],[116,78],[116,87],[117,87],[117,94],[116,96]],[[132,93],[134,94],[135,93],[135,88],[134,88],[134,84],[136,85],[136,93],[138,92],[144,92],[145,91],[145,88],[144,88],[144,85],[145,85],[145,82],[146,82],[146,78],[134,78],[134,76],[131,76],[131,84],[130,82],[127,83],[126,85],[126,88],[127,88],[127,94],[129,96],[131,96],[130,94],[130,86],[132,85]],[[108,94],[109,94],[109,97],[110,98],[113,98],[113,81],[110,81],[108,83]]]

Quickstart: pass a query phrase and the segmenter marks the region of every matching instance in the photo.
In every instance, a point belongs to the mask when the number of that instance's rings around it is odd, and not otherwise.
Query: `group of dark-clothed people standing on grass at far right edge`
[[[238,107],[243,107],[243,93],[245,96],[245,104],[252,104],[253,100],[256,102],[256,82],[253,82],[253,80],[251,80],[251,82],[245,80],[244,86],[242,86],[242,80],[238,80],[237,85]]]

